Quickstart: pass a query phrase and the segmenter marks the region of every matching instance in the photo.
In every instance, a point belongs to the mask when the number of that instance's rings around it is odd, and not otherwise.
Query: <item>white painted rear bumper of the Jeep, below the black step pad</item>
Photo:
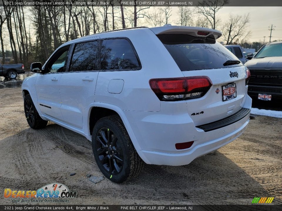
[[[242,107],[251,109],[251,98],[246,96]],[[176,113],[173,113],[176,112]],[[186,113],[185,113],[186,112]],[[124,111],[141,150],[139,156],[147,164],[186,165],[195,158],[212,152],[239,137],[249,123],[250,113],[229,125],[205,131],[194,125],[187,110],[136,112]],[[171,115],[168,115],[170,113]],[[177,150],[176,143],[194,143],[188,149]]]

